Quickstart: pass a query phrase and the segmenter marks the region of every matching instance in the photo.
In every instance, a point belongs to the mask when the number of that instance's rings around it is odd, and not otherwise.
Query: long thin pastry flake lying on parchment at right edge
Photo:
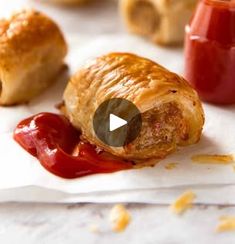
[[[235,162],[235,157],[232,154],[199,154],[191,157],[192,161],[200,164],[230,164]]]

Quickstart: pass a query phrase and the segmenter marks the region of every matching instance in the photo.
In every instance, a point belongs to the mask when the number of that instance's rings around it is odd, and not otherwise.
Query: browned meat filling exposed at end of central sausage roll
[[[128,145],[132,152],[142,151],[148,157],[165,157],[180,140],[186,140],[187,126],[181,110],[173,102],[163,104],[142,114],[142,130]]]

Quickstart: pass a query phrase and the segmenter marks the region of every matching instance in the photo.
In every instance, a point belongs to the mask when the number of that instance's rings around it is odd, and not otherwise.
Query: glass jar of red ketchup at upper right
[[[186,26],[185,78],[202,100],[235,103],[235,0],[201,0]]]

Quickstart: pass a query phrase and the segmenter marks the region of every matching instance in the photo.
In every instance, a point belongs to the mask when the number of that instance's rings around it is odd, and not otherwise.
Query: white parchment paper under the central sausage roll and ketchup
[[[112,51],[133,52],[183,72],[183,51],[161,48],[137,37],[108,35],[90,39],[69,38],[67,63],[70,73],[92,57]],[[56,177],[12,139],[17,123],[39,112],[57,112],[66,74],[28,105],[0,107],[0,201],[127,201],[167,203],[184,189],[198,192],[198,202],[235,203],[235,172],[232,165],[199,165],[191,156],[200,153],[235,153],[235,106],[204,104],[206,124],[197,145],[179,149],[154,168],[100,174],[75,180]],[[177,163],[167,170],[168,163]],[[53,192],[53,193],[52,193]],[[224,194],[225,197],[221,197]]]

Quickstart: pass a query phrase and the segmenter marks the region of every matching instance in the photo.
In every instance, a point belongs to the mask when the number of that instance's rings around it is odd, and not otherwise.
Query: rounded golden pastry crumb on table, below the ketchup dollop
[[[131,215],[122,204],[115,205],[110,212],[110,221],[114,232],[122,232],[130,223]]]

